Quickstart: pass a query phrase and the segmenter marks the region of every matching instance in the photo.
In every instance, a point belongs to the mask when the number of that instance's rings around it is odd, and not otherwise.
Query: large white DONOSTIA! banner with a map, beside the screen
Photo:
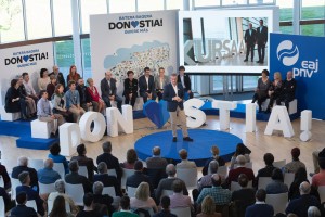
[[[177,23],[174,10],[91,15],[91,67],[95,86],[100,87],[107,69],[118,84],[127,78],[128,71],[133,71],[138,78],[146,66],[152,75],[159,67],[165,67],[167,75],[176,73]]]

